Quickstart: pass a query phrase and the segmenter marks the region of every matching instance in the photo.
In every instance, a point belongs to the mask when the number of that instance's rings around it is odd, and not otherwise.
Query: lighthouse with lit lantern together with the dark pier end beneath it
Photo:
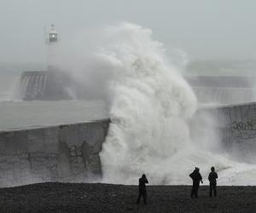
[[[73,99],[67,90],[71,83],[70,77],[59,68],[61,65],[61,60],[58,60],[60,37],[55,30],[55,25],[51,25],[49,29],[44,27],[44,40],[47,47],[47,70],[22,72],[19,98],[23,101]]]

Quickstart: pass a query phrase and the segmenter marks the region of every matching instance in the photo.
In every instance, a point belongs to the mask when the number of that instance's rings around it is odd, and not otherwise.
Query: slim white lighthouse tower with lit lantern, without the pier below
[[[52,24],[50,27],[46,41],[48,45],[48,70],[53,71],[57,66],[58,32],[55,30],[55,25]]]

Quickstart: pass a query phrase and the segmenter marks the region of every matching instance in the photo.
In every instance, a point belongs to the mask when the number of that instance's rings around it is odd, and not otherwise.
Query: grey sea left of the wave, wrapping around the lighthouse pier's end
[[[30,66],[27,66],[27,69],[32,70]],[[2,67],[0,70],[0,130],[26,129],[108,118],[104,101],[21,101],[16,99],[15,93],[19,87],[20,73],[20,69],[12,65]]]

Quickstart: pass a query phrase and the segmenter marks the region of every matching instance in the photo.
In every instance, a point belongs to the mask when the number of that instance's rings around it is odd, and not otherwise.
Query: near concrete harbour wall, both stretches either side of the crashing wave
[[[211,124],[207,123],[209,116]],[[0,187],[42,181],[99,181],[99,153],[109,123],[104,119],[0,131]],[[241,161],[256,163],[256,103],[201,108],[191,126],[207,125],[217,132],[223,150]],[[200,135],[198,129],[192,128],[192,134]],[[211,135],[205,135],[207,143]]]

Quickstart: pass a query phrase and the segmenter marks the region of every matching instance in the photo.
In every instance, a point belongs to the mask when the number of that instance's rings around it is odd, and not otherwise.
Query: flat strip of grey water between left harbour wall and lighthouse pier
[[[108,118],[103,101],[0,101],[0,130]]]

